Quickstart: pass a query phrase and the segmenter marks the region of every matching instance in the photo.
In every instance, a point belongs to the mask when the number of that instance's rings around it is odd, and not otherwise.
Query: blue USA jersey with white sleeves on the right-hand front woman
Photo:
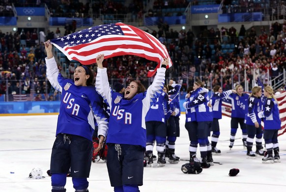
[[[110,107],[107,143],[132,144],[146,147],[145,116],[163,92],[165,68],[157,69],[153,83],[147,91],[130,100],[114,92],[109,86],[107,69],[97,69],[96,91]]]

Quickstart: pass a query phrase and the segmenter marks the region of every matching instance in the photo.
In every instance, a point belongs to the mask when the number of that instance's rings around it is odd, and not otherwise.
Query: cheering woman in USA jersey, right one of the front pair
[[[162,94],[165,83],[165,58],[151,86],[145,91],[142,83],[132,81],[124,97],[114,92],[108,82],[107,69],[103,68],[103,54],[96,58],[98,65],[96,90],[111,108],[107,169],[114,192],[139,192],[143,185],[143,160],[146,147],[145,116]]]

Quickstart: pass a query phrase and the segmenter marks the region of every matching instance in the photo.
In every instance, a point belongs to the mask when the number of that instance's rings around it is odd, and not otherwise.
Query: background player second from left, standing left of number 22
[[[180,136],[180,89],[181,85],[176,84],[172,79],[169,81],[169,87],[172,87],[168,92],[171,99],[169,106],[172,114],[167,125],[167,141],[166,141],[166,158],[172,164],[178,163],[179,157],[175,155],[176,138]]]

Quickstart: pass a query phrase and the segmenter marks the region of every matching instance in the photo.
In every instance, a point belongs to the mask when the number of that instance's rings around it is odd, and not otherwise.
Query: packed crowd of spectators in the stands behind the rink
[[[35,29],[14,34],[0,31],[0,94],[7,91],[12,95],[45,94],[41,99],[52,99],[55,92],[46,79],[43,42],[67,35],[70,30],[61,34],[57,29],[55,32],[48,31],[47,35]],[[194,34],[191,29],[173,30],[161,20],[158,30],[147,32],[168,48],[173,67],[167,70],[166,77],[181,82],[185,91],[197,79],[201,79],[209,89],[222,85],[225,90],[237,84],[244,87],[247,81],[251,90],[254,76],[258,76],[263,83],[269,83],[286,69],[286,24],[275,22],[270,29],[261,27],[260,30],[255,27],[246,30],[243,25],[240,29],[205,28]],[[233,48],[225,51],[226,45]],[[72,62],[67,63],[66,71],[58,62],[58,69],[72,77],[76,67],[73,65]],[[138,79],[148,87],[152,79],[147,78],[147,72],[156,65],[132,55],[104,60],[104,66],[113,69],[108,71],[111,82],[119,81],[125,85]],[[96,76],[96,64],[90,68]]]

